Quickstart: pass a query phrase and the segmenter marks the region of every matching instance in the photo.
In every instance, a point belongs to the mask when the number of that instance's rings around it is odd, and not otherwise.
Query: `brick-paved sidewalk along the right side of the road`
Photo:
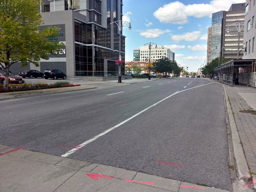
[[[251,174],[256,175],[256,114],[250,113],[256,89],[243,85],[225,86]],[[248,105],[249,104],[249,105]],[[251,111],[253,112],[253,111]]]

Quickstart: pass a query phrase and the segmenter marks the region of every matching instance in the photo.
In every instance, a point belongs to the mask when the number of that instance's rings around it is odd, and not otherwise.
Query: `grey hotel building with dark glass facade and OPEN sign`
[[[41,59],[40,67],[31,64],[27,68],[41,72],[54,68],[66,73],[68,78],[118,76],[115,60],[119,58],[119,29],[112,22],[122,20],[122,0],[42,2],[39,9],[44,24],[41,29],[58,26],[59,36],[48,38],[64,43],[65,48],[54,55],[48,55],[49,60]],[[125,60],[125,36],[122,31],[121,56]],[[124,66],[121,67],[122,73]]]

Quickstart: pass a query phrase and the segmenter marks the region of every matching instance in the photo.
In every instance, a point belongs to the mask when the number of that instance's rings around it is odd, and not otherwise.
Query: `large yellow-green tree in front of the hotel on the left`
[[[38,9],[40,0],[0,0],[0,66],[5,70],[8,88],[9,67],[17,62],[39,66],[47,53],[60,51],[64,44],[51,42],[47,37],[57,36],[58,27],[39,30],[42,24]]]

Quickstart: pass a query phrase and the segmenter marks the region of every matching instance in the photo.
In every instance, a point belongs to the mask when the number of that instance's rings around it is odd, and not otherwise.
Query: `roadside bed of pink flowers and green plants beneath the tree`
[[[26,91],[26,90],[39,90],[39,89],[51,89],[59,87],[76,87],[80,84],[70,84],[69,82],[60,81],[55,84],[47,83],[35,83],[32,84],[9,84],[9,89],[7,90],[3,85],[0,86],[0,93],[15,92],[15,91]]]

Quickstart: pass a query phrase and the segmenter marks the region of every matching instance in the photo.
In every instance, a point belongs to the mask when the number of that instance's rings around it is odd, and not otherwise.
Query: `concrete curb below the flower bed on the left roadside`
[[[76,89],[76,90],[52,91],[52,92],[46,92],[46,93],[29,93],[27,95],[21,95],[21,96],[6,96],[3,98],[0,98],[0,101],[5,101],[5,100],[9,100],[9,99],[26,98],[26,97],[32,97],[32,96],[52,95],[52,94],[57,94],[57,93],[68,93],[68,92],[74,92],[74,91],[80,91],[80,90],[90,90],[90,89],[98,89],[98,87],[89,87],[89,88]]]

